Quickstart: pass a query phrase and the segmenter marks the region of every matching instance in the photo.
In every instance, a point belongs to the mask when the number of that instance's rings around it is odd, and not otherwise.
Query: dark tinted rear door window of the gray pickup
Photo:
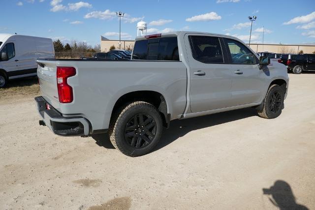
[[[223,63],[221,44],[218,37],[189,36],[192,56],[204,63]]]

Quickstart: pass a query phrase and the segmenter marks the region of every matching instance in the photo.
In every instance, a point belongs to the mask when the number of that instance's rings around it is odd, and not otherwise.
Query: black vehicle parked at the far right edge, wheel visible
[[[299,54],[287,63],[287,68],[294,74],[301,74],[303,71],[315,71],[315,54]]]

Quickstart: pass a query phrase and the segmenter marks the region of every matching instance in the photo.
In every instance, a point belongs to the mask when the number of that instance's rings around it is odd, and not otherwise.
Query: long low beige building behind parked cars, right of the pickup
[[[311,45],[279,45],[279,44],[251,44],[250,46],[255,52],[270,52],[270,53],[291,53],[298,54],[300,50],[303,53],[315,52],[315,46]]]

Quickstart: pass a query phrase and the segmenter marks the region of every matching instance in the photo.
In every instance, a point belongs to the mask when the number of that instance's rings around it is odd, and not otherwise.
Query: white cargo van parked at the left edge
[[[9,79],[36,75],[37,59],[54,59],[49,38],[0,33],[0,88]]]

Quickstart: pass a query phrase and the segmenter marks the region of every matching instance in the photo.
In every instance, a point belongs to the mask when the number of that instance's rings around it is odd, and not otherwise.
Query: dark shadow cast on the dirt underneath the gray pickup
[[[171,121],[170,127],[168,129],[163,129],[161,140],[159,141],[156,148],[151,152],[154,152],[171,144],[172,142],[186,135],[190,131],[202,129],[205,127],[211,127],[214,125],[219,125],[235,120],[241,120],[256,115],[257,112],[255,109],[245,108],[185,120],[173,120]],[[111,144],[107,134],[95,134],[92,136],[92,138],[100,147],[115,149],[114,146]]]

